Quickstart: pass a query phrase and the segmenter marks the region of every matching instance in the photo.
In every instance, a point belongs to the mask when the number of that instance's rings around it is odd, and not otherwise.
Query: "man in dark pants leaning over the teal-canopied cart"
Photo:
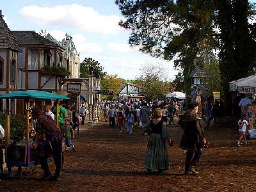
[[[42,108],[37,108],[37,113],[34,147],[38,149],[38,158],[41,168],[44,170],[44,175],[41,179],[58,180],[61,170],[61,132],[51,116],[44,115]],[[45,136],[45,139],[38,145],[40,136]],[[47,163],[50,154],[52,154],[55,164],[55,173],[53,176]]]

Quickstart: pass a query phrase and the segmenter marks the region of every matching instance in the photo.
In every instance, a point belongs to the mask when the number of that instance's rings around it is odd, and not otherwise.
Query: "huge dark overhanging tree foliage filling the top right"
[[[190,93],[189,73],[202,52],[218,52],[223,95],[228,82],[245,77],[255,67],[254,14],[248,0],[116,0],[131,31],[129,44],[164,60],[174,60]],[[240,70],[241,69],[241,70]],[[239,70],[239,73],[237,73]]]

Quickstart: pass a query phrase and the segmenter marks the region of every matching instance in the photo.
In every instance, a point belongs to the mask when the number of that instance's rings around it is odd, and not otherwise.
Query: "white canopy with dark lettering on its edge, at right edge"
[[[229,83],[230,91],[239,93],[256,93],[256,74]]]

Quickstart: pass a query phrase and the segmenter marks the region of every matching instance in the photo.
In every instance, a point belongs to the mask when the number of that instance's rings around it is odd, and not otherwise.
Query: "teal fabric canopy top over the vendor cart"
[[[0,99],[69,99],[69,97],[36,90],[26,90],[0,95]]]

